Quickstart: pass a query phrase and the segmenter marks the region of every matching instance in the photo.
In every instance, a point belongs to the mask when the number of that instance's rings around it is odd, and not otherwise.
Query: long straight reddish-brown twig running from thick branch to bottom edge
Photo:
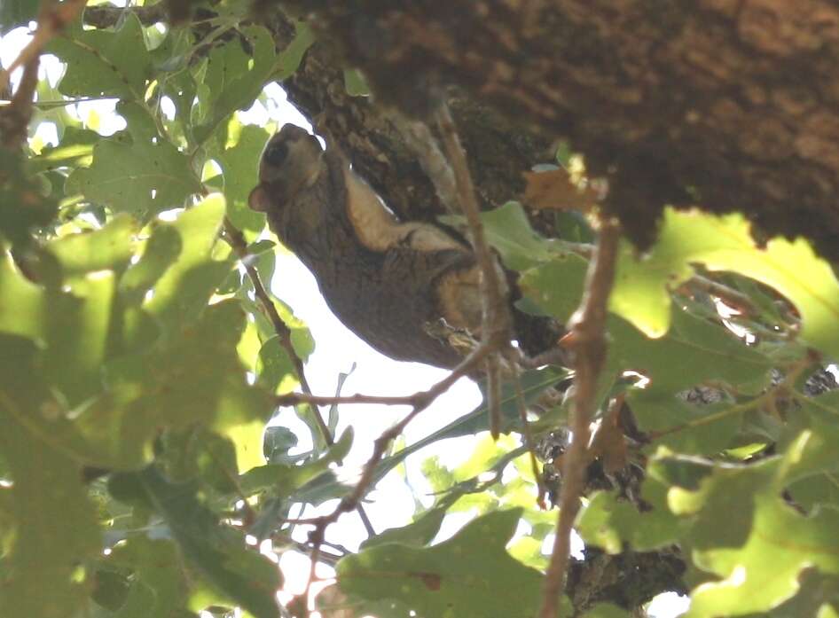
[[[540,618],[556,618],[556,608],[565,585],[571,545],[571,529],[584,489],[589,425],[597,407],[597,380],[606,360],[608,297],[615,281],[620,228],[602,223],[600,240],[589,265],[585,293],[574,317],[566,344],[574,351],[575,398],[571,419],[572,440],[562,466],[560,514],[556,524],[551,563],[545,575]]]

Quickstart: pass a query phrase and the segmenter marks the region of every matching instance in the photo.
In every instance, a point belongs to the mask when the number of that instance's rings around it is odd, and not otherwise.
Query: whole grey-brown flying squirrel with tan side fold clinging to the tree
[[[457,365],[462,351],[429,333],[440,318],[480,339],[471,246],[431,223],[400,222],[340,151],[306,130],[286,124],[271,137],[249,203],[311,270],[333,313],[385,356]]]

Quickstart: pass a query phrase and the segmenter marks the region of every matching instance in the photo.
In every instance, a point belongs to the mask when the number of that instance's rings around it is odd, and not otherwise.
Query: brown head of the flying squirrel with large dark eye
[[[286,124],[268,140],[259,162],[259,184],[248,198],[260,212],[282,207],[315,183],[323,169],[324,151],[318,138]]]

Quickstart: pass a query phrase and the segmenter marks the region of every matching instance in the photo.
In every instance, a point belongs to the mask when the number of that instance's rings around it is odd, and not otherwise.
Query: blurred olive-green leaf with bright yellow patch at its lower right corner
[[[234,442],[239,467],[262,461],[261,430],[271,415],[271,396],[247,384],[235,348],[244,318],[237,301],[216,303],[184,332],[108,365],[106,394],[76,423],[100,444],[112,467],[147,462],[161,426],[197,423]]]

